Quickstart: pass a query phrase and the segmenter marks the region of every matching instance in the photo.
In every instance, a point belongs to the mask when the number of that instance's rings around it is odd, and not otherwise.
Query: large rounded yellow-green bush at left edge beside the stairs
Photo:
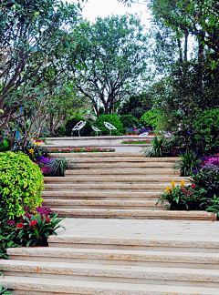
[[[0,153],[0,203],[9,219],[24,215],[25,207],[41,206],[43,175],[40,168],[22,152]]]

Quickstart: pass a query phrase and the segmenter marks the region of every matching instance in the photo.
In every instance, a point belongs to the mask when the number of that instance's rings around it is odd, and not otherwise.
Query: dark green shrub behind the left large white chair
[[[86,120],[84,117],[70,117],[67,120],[66,123],[66,136],[71,137],[78,137],[78,130],[77,131],[73,131],[72,134],[72,128],[75,127],[79,121],[86,121],[86,125],[85,127],[83,127],[80,131],[79,134],[81,137],[89,137],[91,135],[91,132],[93,131],[93,129],[91,128],[92,125],[94,125],[94,120],[93,119],[88,119]]]

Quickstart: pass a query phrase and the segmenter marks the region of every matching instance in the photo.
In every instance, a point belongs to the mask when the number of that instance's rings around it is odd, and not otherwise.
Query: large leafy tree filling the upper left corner
[[[78,5],[59,0],[1,1],[0,131],[16,119],[18,107],[43,99],[42,88],[63,83],[66,57],[72,64],[68,53],[80,47],[74,37],[78,13]]]

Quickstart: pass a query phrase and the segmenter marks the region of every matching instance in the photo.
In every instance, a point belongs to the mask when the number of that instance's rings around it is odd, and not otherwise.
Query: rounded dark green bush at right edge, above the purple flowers
[[[194,139],[197,146],[211,151],[219,146],[219,108],[207,109],[193,122]]]

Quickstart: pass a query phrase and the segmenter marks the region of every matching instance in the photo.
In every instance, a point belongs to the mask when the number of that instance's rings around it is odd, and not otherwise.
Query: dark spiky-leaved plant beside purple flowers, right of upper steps
[[[193,170],[200,168],[202,163],[201,158],[199,158],[193,150],[187,150],[184,154],[180,154],[180,160],[176,161],[174,169],[180,169],[181,177],[191,176]]]

